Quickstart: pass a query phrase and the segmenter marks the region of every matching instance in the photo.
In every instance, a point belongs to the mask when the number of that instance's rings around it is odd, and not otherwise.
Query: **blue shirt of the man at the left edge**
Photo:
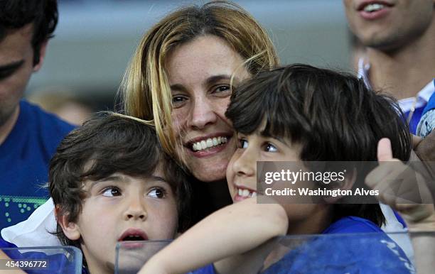
[[[48,199],[48,163],[74,126],[26,101],[0,145],[0,229],[27,219]]]

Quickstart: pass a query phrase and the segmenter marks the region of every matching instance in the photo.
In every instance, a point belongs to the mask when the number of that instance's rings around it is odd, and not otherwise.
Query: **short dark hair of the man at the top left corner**
[[[53,37],[58,23],[56,0],[0,0],[0,41],[10,29],[33,23],[33,65],[39,63],[41,44]]]

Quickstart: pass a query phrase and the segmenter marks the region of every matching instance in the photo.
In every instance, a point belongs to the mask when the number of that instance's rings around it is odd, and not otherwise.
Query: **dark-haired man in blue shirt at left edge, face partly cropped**
[[[0,229],[48,199],[48,162],[73,126],[22,100],[58,23],[55,0],[0,1]]]

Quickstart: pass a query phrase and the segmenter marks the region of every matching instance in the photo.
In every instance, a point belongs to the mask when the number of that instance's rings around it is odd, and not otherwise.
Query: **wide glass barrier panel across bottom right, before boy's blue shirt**
[[[137,273],[154,253],[170,242],[119,243],[115,273]],[[434,264],[435,232],[321,234],[285,236],[269,241],[241,258],[230,273],[433,274]],[[192,273],[208,272],[195,270]]]

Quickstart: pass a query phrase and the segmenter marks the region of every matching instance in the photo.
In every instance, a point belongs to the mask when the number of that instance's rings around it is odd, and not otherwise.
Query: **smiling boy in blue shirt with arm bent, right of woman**
[[[387,97],[331,70],[291,65],[248,80],[233,92],[226,112],[239,143],[227,167],[235,204],[193,226],[141,273],[184,273],[210,262],[216,263],[196,273],[257,273],[261,265],[249,269],[241,262],[255,258],[247,251],[274,236],[355,232],[376,234],[370,246],[358,246],[349,237],[320,237],[265,265],[270,266],[266,273],[414,273],[403,251],[380,229],[379,204],[335,204],[339,198],[258,204],[255,198],[257,161],[375,161],[382,137],[392,140],[395,158],[407,160],[411,138],[398,113]]]

